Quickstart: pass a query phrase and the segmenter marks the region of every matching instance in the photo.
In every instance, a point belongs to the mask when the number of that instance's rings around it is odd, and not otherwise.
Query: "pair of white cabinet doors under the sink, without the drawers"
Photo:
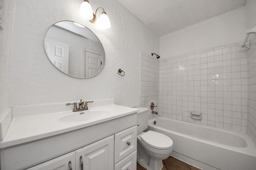
[[[114,135],[27,170],[113,170]]]

